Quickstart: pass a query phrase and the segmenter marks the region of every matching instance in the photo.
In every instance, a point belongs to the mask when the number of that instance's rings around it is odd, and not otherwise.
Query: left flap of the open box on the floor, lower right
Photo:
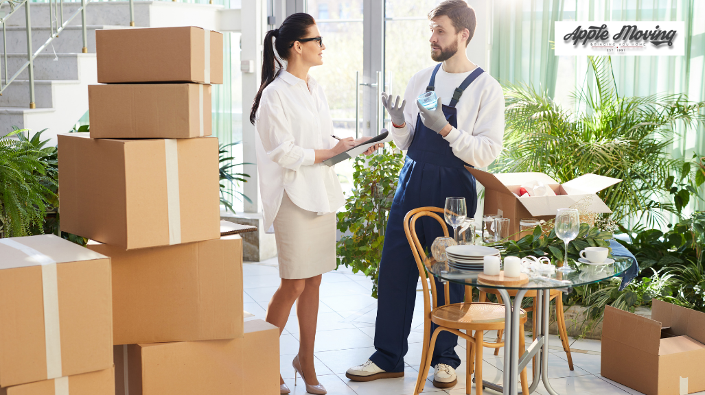
[[[612,306],[605,306],[602,337],[632,346],[651,355],[658,355],[661,322]]]

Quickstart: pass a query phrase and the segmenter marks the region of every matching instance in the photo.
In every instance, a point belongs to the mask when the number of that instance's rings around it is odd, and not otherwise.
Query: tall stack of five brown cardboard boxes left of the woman
[[[278,329],[243,322],[242,239],[220,237],[223,36],[98,30],[96,49],[90,137],[59,136],[61,228],[111,258],[116,394],[278,394]]]

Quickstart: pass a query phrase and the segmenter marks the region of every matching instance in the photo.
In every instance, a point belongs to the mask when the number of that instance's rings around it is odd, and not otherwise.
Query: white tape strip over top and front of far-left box
[[[59,332],[59,284],[56,261],[49,256],[20,244],[13,239],[0,239],[0,243],[27,254],[42,265],[42,294],[44,297],[44,341],[47,349],[47,379],[61,377],[61,333]],[[68,388],[68,387],[67,387]],[[68,390],[67,390],[68,391]],[[68,392],[66,392],[68,394]]]

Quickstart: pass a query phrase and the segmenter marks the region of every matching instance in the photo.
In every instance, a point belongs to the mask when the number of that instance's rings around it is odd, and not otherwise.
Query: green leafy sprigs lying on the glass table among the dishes
[[[577,261],[580,258],[580,251],[586,247],[607,247],[609,239],[613,238],[612,232],[600,230],[599,227],[590,227],[587,223],[580,224],[580,231],[575,240],[568,243],[568,259]],[[537,226],[532,234],[527,234],[518,241],[510,240],[489,244],[490,246],[501,246],[505,249],[503,256],[549,256],[553,262],[561,262],[565,253],[565,242],[556,236],[556,231],[551,229],[548,234],[544,234],[541,226]],[[610,252],[612,250],[610,249]]]

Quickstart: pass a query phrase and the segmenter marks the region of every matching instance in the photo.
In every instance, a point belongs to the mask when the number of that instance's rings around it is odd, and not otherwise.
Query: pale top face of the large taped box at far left
[[[58,237],[55,234],[12,237],[6,240],[13,243],[22,244],[23,246],[38,251],[56,263],[92,261],[94,259],[108,258],[101,253],[85,249],[78,244],[74,244],[66,239]],[[0,243],[0,256],[3,257],[0,259],[0,270],[41,265],[40,261],[31,258],[27,255],[27,253],[3,243]]]

